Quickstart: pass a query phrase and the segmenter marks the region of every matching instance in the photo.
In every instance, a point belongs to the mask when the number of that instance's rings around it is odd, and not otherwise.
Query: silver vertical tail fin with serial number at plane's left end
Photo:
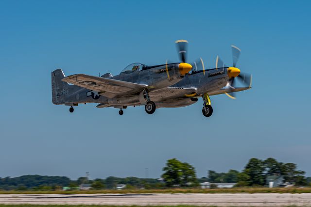
[[[52,72],[52,103],[64,104],[65,95],[68,93],[69,84],[62,81],[65,78],[64,72],[61,69],[56,69]]]

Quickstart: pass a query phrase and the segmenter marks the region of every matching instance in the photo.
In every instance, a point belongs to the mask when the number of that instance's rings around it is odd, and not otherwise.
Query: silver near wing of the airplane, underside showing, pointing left
[[[147,85],[144,84],[89,76],[85,74],[67,76],[63,78],[62,81],[69,82],[92,91],[97,91],[100,95],[108,98],[135,94],[147,87]]]

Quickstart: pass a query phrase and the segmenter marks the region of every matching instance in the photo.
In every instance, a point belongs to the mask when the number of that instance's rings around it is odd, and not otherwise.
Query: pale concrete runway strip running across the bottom
[[[311,193],[187,193],[187,194],[0,194],[0,204],[304,206]]]

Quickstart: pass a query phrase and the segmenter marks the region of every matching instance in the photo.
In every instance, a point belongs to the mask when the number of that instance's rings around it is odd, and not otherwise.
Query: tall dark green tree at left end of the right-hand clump
[[[265,164],[261,159],[257,158],[250,159],[243,170],[243,173],[249,176],[249,184],[251,186],[265,185],[266,176],[264,172]]]

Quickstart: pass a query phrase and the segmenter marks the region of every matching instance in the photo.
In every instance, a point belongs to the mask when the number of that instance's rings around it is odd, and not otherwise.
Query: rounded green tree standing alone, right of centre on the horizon
[[[163,171],[165,173],[162,178],[164,178],[167,187],[173,187],[174,185],[185,187],[189,183],[192,186],[198,184],[194,167],[178,159],[167,160]]]

